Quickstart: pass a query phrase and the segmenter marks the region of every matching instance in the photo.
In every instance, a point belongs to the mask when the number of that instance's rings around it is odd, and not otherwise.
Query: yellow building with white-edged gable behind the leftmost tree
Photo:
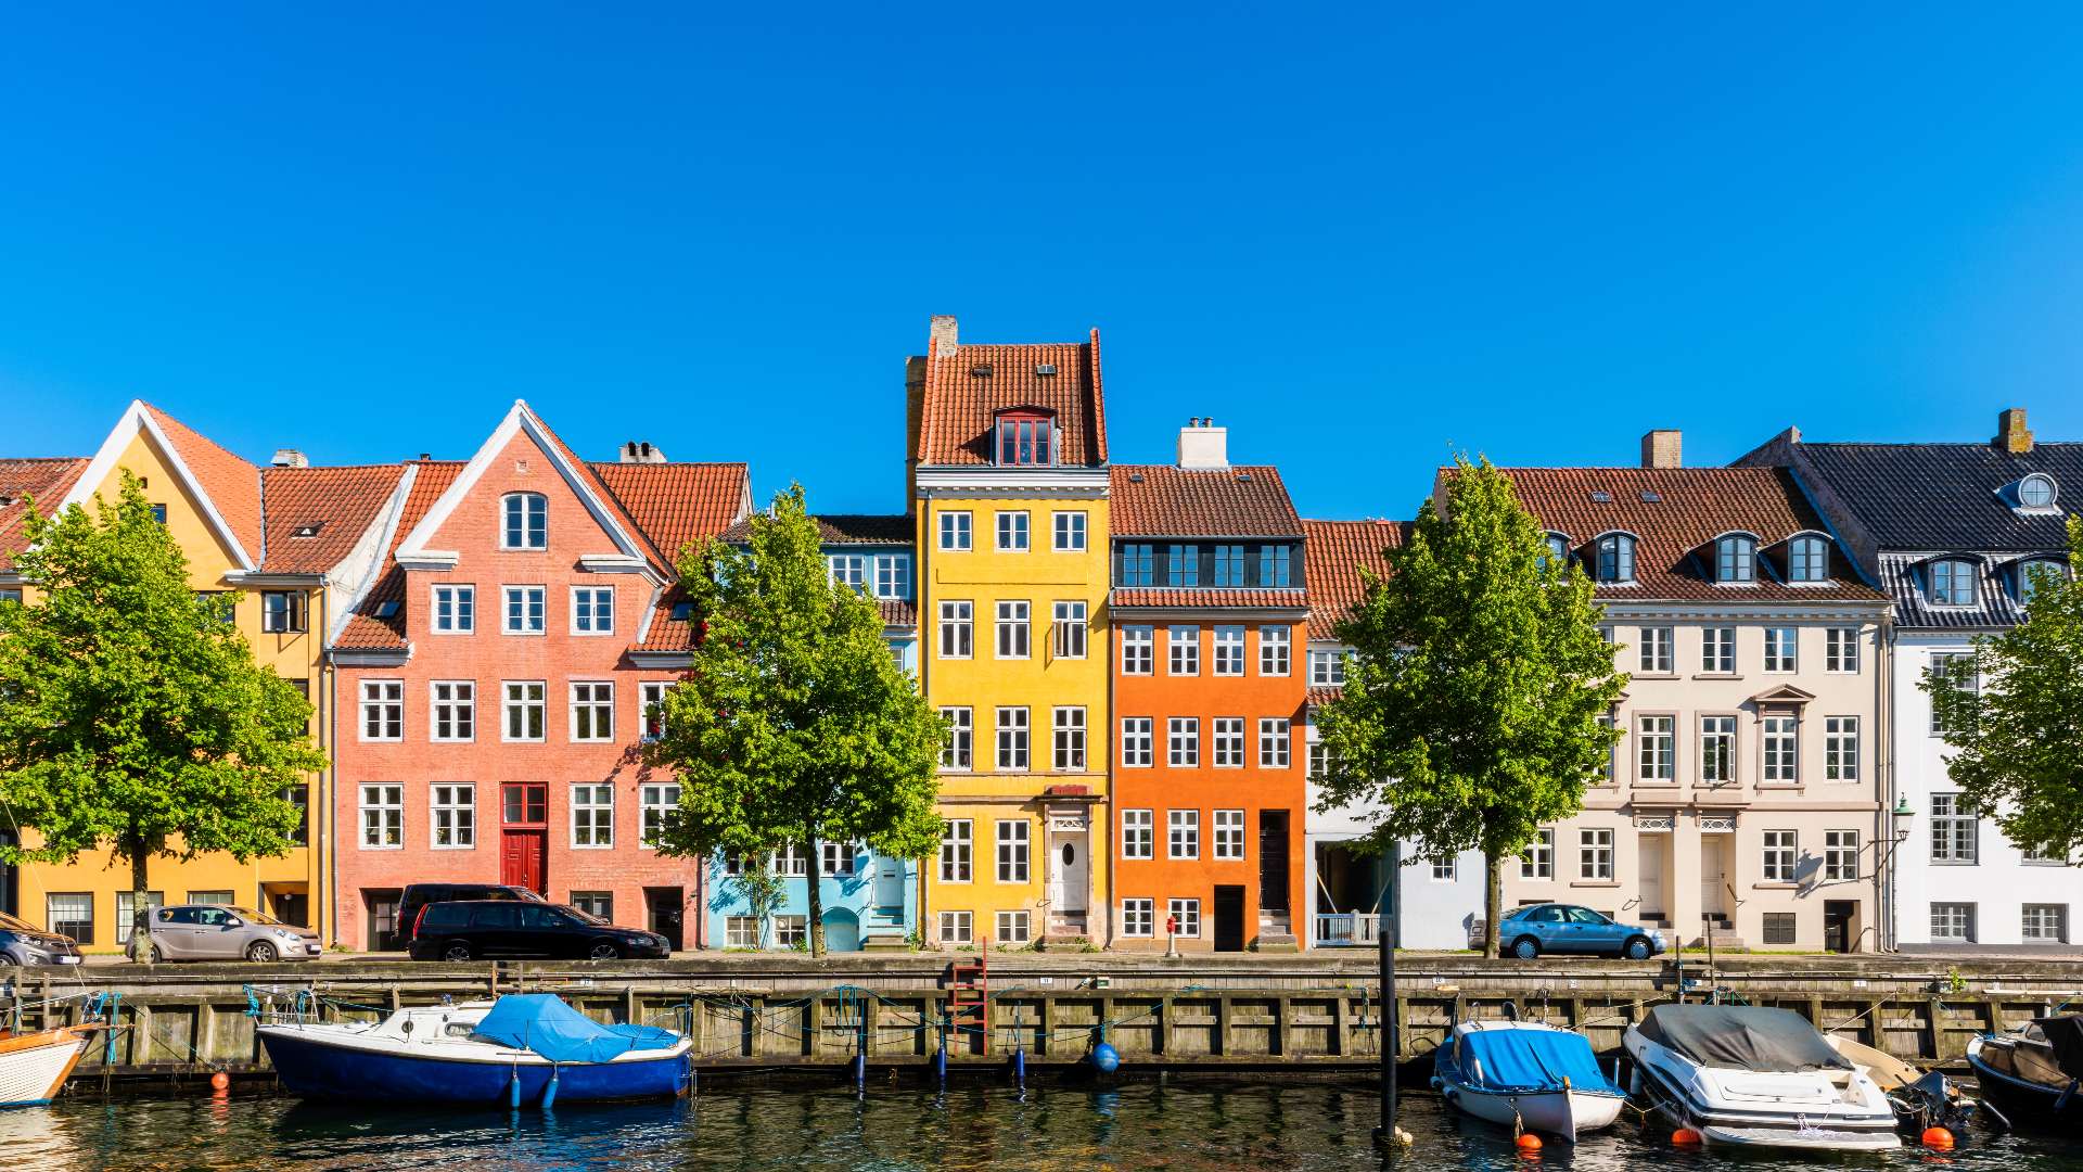
[[[131,402],[92,459],[0,461],[0,590],[23,590],[8,557],[21,544],[23,496],[54,513],[94,498],[115,500],[123,473],[137,475],[204,590],[242,590],[235,621],[254,659],[304,688],[317,709],[312,734],[331,757],[337,703],[325,646],[369,588],[385,532],[404,505],[404,469],[308,467],[294,450],[258,467],[171,415]],[[29,599],[33,603],[33,590]],[[304,847],[281,859],[237,863],[227,855],[152,859],[152,903],[235,903],[331,938],[333,830],[323,811],[331,770],[292,795],[315,811]],[[29,834],[33,845],[33,832]],[[85,951],[119,951],[131,922],[129,863],[81,855],[69,865],[25,863],[8,876],[6,905],[31,924],[75,936]]]

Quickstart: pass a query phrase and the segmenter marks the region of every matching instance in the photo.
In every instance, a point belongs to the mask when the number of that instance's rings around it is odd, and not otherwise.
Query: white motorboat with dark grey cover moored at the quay
[[[1881,1086],[1789,1009],[1658,1005],[1623,1045],[1635,1059],[1635,1093],[1708,1145],[1902,1147]]]

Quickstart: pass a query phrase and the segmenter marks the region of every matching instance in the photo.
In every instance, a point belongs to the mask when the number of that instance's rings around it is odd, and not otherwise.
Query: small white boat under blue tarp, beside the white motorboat
[[[1571,1143],[1627,1103],[1583,1034],[1541,1022],[1460,1022],[1433,1055],[1433,1089],[1479,1120]]]

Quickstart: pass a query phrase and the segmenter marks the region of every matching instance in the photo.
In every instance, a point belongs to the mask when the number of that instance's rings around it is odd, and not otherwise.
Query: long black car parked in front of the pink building
[[[673,947],[656,932],[617,928],[562,903],[467,899],[429,903],[412,932],[412,959],[662,959]]]

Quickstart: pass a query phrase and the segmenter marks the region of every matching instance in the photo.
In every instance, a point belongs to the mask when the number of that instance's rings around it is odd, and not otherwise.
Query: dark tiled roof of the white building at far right
[[[2083,503],[2083,444],[1812,444],[1808,469],[1829,484],[1881,548],[2035,553],[2068,546],[2062,513]],[[2058,511],[2018,513],[2008,490],[2027,473],[2054,478]]]

